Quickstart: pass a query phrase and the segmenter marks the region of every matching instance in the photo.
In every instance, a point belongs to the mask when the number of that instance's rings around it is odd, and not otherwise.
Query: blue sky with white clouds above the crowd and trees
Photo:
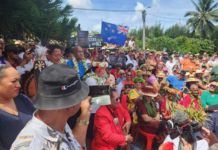
[[[101,32],[101,21],[125,25],[130,29],[142,27],[142,13],[135,10],[146,9],[146,26],[160,22],[164,29],[179,21],[182,25],[185,25],[188,19],[184,17],[185,13],[195,11],[195,6],[191,0],[64,0],[64,3],[68,3],[74,8],[134,10],[133,12],[74,10],[72,16],[78,18],[77,23],[80,24],[82,30],[89,32],[92,30]],[[151,6],[151,8],[148,8],[148,6]]]

